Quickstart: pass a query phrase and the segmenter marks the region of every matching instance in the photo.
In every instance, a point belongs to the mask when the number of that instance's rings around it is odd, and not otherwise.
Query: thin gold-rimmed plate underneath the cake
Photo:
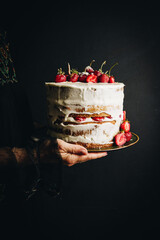
[[[112,145],[110,147],[105,148],[90,148],[88,152],[104,152],[104,151],[113,151],[120,150],[123,148],[131,147],[139,141],[139,136],[132,132],[132,138],[129,142],[126,142],[123,146]]]

